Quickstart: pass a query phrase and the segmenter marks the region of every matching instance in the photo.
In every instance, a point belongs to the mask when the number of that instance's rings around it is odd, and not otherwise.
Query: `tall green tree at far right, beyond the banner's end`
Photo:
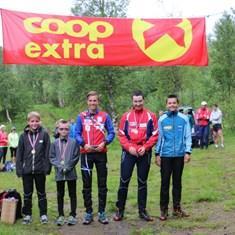
[[[215,36],[210,41],[211,78],[214,99],[223,106],[227,123],[235,128],[235,10],[225,12],[215,25]]]

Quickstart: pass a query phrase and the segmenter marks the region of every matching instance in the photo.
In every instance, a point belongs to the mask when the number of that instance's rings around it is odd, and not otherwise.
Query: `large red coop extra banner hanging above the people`
[[[208,64],[205,19],[92,18],[1,10],[5,64]]]

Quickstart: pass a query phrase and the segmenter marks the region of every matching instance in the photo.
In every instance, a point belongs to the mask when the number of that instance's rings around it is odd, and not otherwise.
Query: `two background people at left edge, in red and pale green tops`
[[[8,134],[5,125],[0,126],[0,163],[5,164],[8,147],[11,152],[11,160],[15,163],[18,142],[19,135],[15,127],[12,127],[11,132]]]

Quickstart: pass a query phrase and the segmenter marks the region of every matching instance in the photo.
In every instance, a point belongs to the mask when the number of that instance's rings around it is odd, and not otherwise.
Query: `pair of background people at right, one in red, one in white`
[[[206,101],[201,102],[201,107],[196,111],[195,121],[199,132],[200,148],[207,149],[209,145],[210,124],[212,124],[212,134],[215,147],[224,148],[224,137],[222,132],[222,112],[217,104],[214,104],[212,110],[207,106]]]

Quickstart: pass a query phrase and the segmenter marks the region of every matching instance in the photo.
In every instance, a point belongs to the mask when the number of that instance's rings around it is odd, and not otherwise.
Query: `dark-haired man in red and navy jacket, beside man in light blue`
[[[139,217],[152,221],[146,210],[147,179],[151,164],[152,147],[157,142],[158,129],[155,114],[144,108],[144,95],[136,91],[132,96],[133,108],[125,113],[119,125],[118,138],[122,146],[121,177],[116,202],[115,221],[124,216],[128,185],[134,166],[137,166]]]

